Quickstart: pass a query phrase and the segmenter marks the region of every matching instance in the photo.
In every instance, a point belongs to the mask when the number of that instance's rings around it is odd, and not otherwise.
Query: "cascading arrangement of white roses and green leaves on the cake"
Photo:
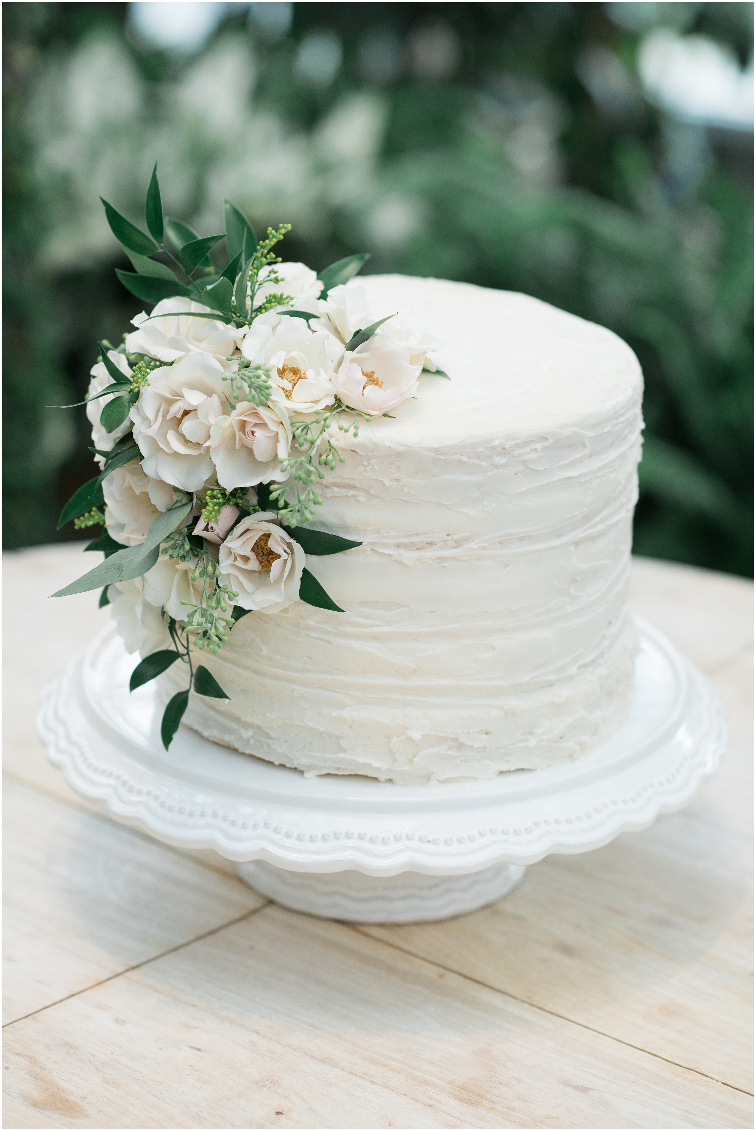
[[[333,440],[391,416],[420,373],[446,374],[431,356],[440,343],[346,286],[367,254],[319,275],[281,262],[273,248],[290,225],[259,241],[229,201],[226,231],[199,236],[163,215],[157,165],[145,204],[149,235],[103,205],[134,268],[116,275],[153,310],[120,345],[99,343],[79,403],[99,473],[68,501],[58,528],[104,527],[87,550],[105,560],[54,596],[102,588],[102,606],[114,588],[131,601],[147,653],[132,691],[176,661],[188,666],[189,687],[163,715],[167,749],[190,691],[228,698],[197,650],[217,655],[250,612],[294,601],[342,612],[305,564],[309,554],[360,545],[306,525],[322,501],[316,483],[345,461]],[[229,261],[218,271],[210,251],[221,240]],[[159,647],[166,630],[171,648]]]

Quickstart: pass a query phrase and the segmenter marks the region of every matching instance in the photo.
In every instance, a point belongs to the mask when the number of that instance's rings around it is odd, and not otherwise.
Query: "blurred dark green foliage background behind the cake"
[[[635,551],[751,575],[753,5],[12,3],[3,41],[6,546],[78,536],[88,426],[44,406],[142,308],[97,197],[142,223],[157,159],[201,234],[228,197],[316,269],[368,250],[612,329]]]

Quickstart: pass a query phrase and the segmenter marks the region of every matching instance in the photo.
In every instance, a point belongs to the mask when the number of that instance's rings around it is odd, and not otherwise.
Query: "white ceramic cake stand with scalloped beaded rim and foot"
[[[183,848],[215,848],[296,910],[360,923],[438,920],[506,895],[548,853],[599,848],[680,809],[724,752],[710,682],[638,622],[633,705],[592,753],[477,785],[305,778],[181,727],[166,753],[155,684],[105,628],[47,685],[51,761],[113,817]]]

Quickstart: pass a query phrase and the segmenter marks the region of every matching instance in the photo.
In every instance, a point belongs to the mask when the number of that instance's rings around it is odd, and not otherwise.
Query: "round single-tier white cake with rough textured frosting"
[[[357,285],[357,280],[349,286]],[[307,775],[488,779],[574,759],[628,705],[642,374],[609,330],[522,294],[397,275],[372,304],[444,343],[414,399],[358,437],[307,564],[344,608],[240,620],[203,663],[229,696],[184,722]],[[184,675],[159,677],[173,694]]]

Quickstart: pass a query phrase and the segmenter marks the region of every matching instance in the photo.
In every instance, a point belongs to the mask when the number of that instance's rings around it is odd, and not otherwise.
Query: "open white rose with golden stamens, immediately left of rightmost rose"
[[[289,412],[314,413],[333,404],[331,374],[344,346],[331,334],[313,333],[302,318],[283,317],[277,327],[255,321],[242,353],[255,365],[270,366],[273,397]]]

